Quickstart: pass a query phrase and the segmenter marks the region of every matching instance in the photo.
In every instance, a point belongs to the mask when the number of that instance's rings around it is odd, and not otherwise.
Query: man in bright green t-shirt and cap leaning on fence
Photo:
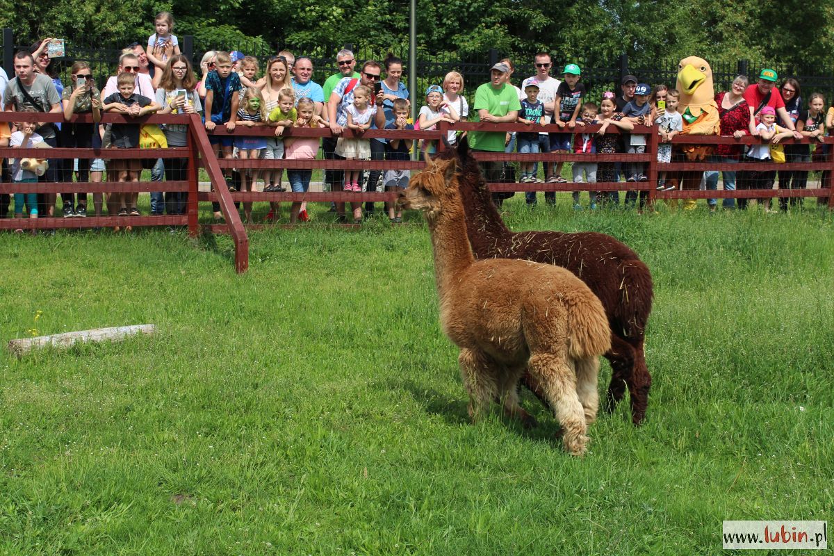
[[[489,123],[515,123],[521,103],[515,88],[507,83],[510,67],[503,62],[490,69],[490,83],[484,83],[475,91],[475,121]],[[470,132],[469,143],[473,151],[503,153],[504,132]],[[502,163],[498,160],[478,163],[487,182],[500,179]],[[494,196],[495,197],[495,196]]]

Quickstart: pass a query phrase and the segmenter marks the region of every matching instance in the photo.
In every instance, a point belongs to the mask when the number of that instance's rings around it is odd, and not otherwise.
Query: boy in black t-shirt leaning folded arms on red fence
[[[138,118],[145,114],[154,113],[162,108],[148,97],[134,93],[136,90],[133,73],[123,72],[116,78],[118,93],[113,93],[105,98],[103,103],[104,112],[112,112]],[[114,148],[139,148],[139,125],[138,123],[113,123],[110,130],[110,143]],[[114,172],[118,173],[118,182],[138,182],[139,174],[142,173],[142,161],[133,158],[113,158],[110,164]],[[120,205],[118,215],[139,216],[139,209],[136,201],[139,193],[113,193],[111,198],[115,203],[118,200]]]

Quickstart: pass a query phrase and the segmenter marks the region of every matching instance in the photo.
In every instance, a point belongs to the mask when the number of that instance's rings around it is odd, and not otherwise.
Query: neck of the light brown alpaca
[[[442,297],[466,268],[475,262],[469,240],[463,206],[450,203],[443,213],[429,223],[431,245],[435,253],[435,279]]]

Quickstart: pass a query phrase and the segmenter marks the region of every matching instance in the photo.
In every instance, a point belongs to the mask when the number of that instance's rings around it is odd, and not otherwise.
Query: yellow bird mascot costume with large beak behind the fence
[[[716,92],[712,83],[712,68],[703,58],[690,56],[678,64],[676,88],[681,92],[678,112],[683,117],[683,133],[689,135],[718,135],[721,119],[718,116]],[[686,160],[706,160],[713,152],[711,145],[682,145]],[[697,189],[703,172],[681,173],[682,189]],[[684,208],[695,208],[695,200],[688,199]]]

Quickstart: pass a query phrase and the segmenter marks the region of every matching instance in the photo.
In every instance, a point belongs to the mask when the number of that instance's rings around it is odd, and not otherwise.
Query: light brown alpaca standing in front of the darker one
[[[579,278],[550,264],[475,261],[466,238],[455,160],[429,163],[400,194],[425,213],[435,253],[440,324],[460,347],[460,375],[470,415],[500,399],[529,422],[518,383],[535,378],[562,427],[565,449],[585,453],[588,423],[599,406],[599,356],[610,348],[600,300]]]

